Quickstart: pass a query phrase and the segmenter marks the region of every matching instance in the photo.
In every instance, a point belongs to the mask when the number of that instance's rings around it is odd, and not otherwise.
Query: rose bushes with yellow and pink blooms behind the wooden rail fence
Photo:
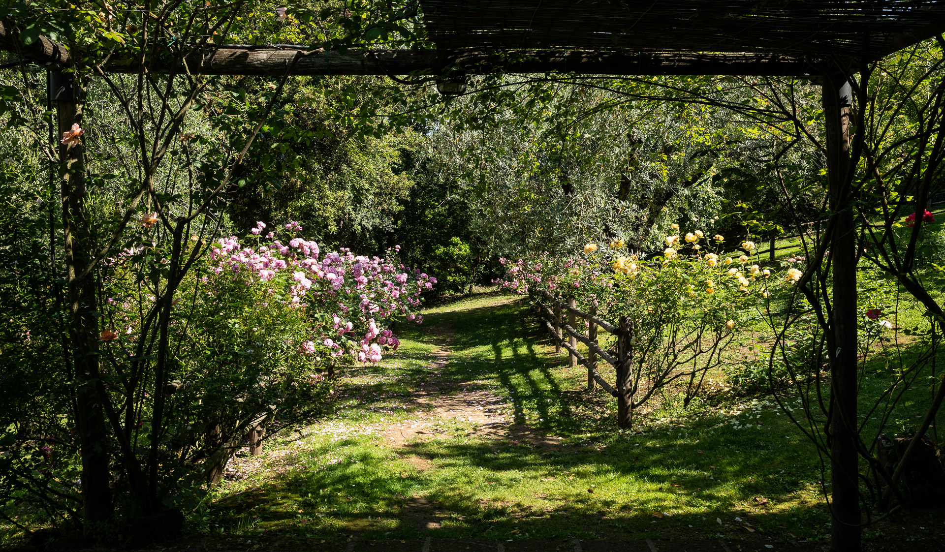
[[[740,330],[765,309],[769,285],[787,281],[752,263],[755,248],[745,247],[747,242],[742,250],[748,254],[736,253],[735,263],[700,243],[722,240],[707,240],[701,231],[682,235],[666,236],[665,249],[655,256],[633,254],[624,244],[613,247],[612,240],[610,249],[584,248],[585,254],[573,258],[546,253],[532,261],[503,260],[509,267],[501,283],[545,304],[545,293],[558,301],[574,298],[578,308],[595,307],[614,325],[627,317],[634,405],[670,384],[679,389],[674,396],[689,405],[706,391],[706,374],[734,355],[731,345]]]

